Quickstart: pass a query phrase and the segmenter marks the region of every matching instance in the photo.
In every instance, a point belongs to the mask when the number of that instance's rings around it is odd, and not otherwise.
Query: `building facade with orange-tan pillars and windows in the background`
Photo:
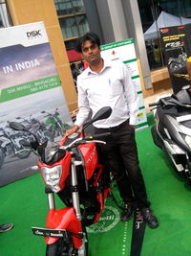
[[[169,82],[162,57],[157,66],[149,62],[144,38],[161,11],[189,17],[190,0],[0,0],[0,26],[45,22],[63,90],[73,110],[76,93],[67,52],[73,51],[75,40],[89,31],[99,35],[102,44],[135,39],[144,95],[153,93],[155,83],[162,86],[162,81]],[[159,38],[149,43],[150,47],[159,46]]]

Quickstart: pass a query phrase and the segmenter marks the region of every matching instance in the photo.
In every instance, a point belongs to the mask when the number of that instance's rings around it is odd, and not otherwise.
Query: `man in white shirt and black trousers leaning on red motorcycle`
[[[138,166],[135,140],[138,94],[128,70],[118,59],[108,61],[101,58],[100,40],[94,33],[83,35],[76,50],[89,63],[89,67],[77,77],[79,112],[74,127],[67,130],[66,135],[76,132],[91,110],[95,115],[103,106],[112,107],[111,116],[97,121],[94,130],[96,134],[111,132],[111,136],[104,139],[106,145],[100,148],[99,154],[104,156],[116,178],[120,196],[125,203],[121,221],[128,221],[132,217],[135,200],[148,225],[155,228],[159,223],[149,209],[150,202]]]

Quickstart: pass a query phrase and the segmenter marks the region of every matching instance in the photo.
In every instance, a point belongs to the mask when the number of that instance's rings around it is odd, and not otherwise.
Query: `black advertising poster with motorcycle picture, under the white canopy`
[[[190,24],[160,29],[164,58],[172,81],[174,93],[189,86],[186,59],[190,56],[188,34]]]

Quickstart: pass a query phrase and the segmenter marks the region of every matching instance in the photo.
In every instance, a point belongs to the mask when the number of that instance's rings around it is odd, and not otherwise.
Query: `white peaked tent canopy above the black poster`
[[[159,29],[166,27],[173,27],[179,25],[185,25],[191,23],[191,18],[178,17],[167,12],[160,12],[157,21],[151,25],[151,27],[144,33],[145,39],[159,37]]]

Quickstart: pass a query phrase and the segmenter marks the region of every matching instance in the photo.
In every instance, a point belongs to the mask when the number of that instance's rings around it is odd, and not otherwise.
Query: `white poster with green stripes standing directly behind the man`
[[[103,58],[120,59],[127,66],[136,91],[138,93],[138,119],[136,128],[146,128],[148,126],[144,100],[142,96],[141,84],[138,74],[138,61],[134,45],[134,39],[127,39],[115,43],[101,46]]]

